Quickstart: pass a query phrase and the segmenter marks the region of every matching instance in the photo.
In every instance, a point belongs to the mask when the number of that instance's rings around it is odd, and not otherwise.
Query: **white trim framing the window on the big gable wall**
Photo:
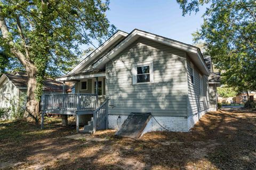
[[[149,66],[149,75],[150,75],[149,82],[141,82],[141,83],[137,82],[137,67],[138,66]],[[132,64],[132,84],[135,85],[135,84],[151,84],[151,83],[154,83],[153,61]]]

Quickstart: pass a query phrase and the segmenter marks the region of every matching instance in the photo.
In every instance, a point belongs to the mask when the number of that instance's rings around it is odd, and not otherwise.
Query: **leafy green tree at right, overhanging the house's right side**
[[[256,2],[254,0],[177,0],[182,14],[208,4],[204,23],[193,36],[204,41],[222,82],[238,92],[256,90]]]

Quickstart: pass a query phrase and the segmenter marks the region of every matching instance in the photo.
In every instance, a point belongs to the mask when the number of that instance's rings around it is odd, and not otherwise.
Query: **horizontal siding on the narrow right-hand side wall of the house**
[[[203,100],[200,99],[200,77],[199,71],[194,66],[194,84],[191,83],[191,66],[187,57],[188,72],[188,114],[189,116],[204,112],[210,108],[209,98],[207,98],[208,77],[203,75]]]

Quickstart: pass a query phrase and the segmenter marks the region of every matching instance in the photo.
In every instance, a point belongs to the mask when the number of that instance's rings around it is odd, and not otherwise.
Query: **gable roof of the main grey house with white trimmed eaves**
[[[119,37],[119,38],[117,38]],[[181,43],[180,41],[173,40],[170,38],[155,35],[150,32],[134,29],[131,33],[126,33],[118,30],[112,37],[110,37],[105,43],[103,43],[98,49],[95,49],[89,56],[87,56],[81,63],[79,63],[73,70],[68,74],[63,75],[57,80],[70,80],[74,78],[74,75],[84,73],[90,70],[104,70],[105,64],[114,58],[118,53],[122,52],[123,49],[132,44],[139,37],[150,39],[173,48],[181,49],[189,54],[191,60],[195,63],[199,70],[205,75],[210,75],[210,71],[204,61],[203,55],[198,47]],[[90,67],[88,67],[88,65]],[[87,67],[86,67],[87,66]],[[82,71],[82,72],[81,72]],[[73,78],[71,78],[73,77]]]

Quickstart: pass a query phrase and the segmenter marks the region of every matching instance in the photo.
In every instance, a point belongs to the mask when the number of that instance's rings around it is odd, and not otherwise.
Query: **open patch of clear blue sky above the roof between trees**
[[[117,29],[141,29],[183,43],[192,44],[191,33],[200,28],[205,7],[195,15],[182,16],[175,0],[110,0],[107,18]]]

